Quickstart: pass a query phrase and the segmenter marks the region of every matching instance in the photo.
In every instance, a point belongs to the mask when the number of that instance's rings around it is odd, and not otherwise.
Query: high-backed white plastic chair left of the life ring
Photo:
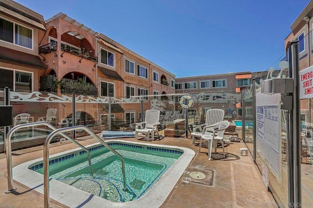
[[[155,140],[155,132],[158,134],[157,125],[159,125],[160,111],[159,110],[147,110],[145,121],[136,123],[135,127],[135,139],[138,139],[138,133],[145,135],[148,141]],[[151,139],[150,139],[151,137]]]

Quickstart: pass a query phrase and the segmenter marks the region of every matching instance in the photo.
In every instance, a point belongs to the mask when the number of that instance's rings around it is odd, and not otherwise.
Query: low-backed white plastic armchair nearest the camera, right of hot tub
[[[199,152],[201,150],[201,145],[202,145],[202,140],[206,140],[208,145],[208,156],[209,156],[209,160],[211,160],[211,152],[212,152],[212,144],[214,142],[214,149],[215,149],[215,153],[217,152],[217,142],[221,141],[222,142],[222,147],[223,147],[223,155],[225,158],[225,150],[224,150],[224,132],[226,130],[226,128],[229,126],[229,122],[228,121],[222,121],[219,122],[215,125],[209,125],[209,126],[205,126],[205,128],[211,128],[213,127],[213,134],[212,135],[208,135],[208,134],[203,134],[201,135],[200,138],[200,144],[199,144]]]

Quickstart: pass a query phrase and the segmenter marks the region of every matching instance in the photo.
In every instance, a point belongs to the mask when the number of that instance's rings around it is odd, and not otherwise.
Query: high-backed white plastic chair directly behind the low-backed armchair
[[[207,127],[217,124],[224,120],[224,110],[222,109],[209,109],[206,111],[205,124],[194,125],[192,135],[192,144],[195,144],[195,139],[200,138],[203,134],[212,135],[213,127]],[[204,128],[206,126],[206,128]],[[205,130],[204,130],[205,129]]]

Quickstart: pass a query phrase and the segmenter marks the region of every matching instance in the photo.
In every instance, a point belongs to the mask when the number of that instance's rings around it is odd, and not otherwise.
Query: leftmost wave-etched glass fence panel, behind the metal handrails
[[[48,122],[56,128],[66,126],[67,114],[71,111],[71,95],[49,92],[10,92],[13,106],[13,126],[34,122]],[[22,128],[12,137],[12,149],[43,145],[52,130],[45,125]],[[58,142],[60,136],[51,141]]]

